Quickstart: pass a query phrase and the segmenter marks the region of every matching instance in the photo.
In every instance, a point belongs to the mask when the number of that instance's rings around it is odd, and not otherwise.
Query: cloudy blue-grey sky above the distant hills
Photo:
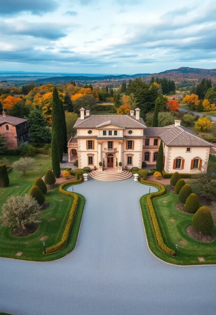
[[[216,68],[216,1],[0,0],[0,70]]]

